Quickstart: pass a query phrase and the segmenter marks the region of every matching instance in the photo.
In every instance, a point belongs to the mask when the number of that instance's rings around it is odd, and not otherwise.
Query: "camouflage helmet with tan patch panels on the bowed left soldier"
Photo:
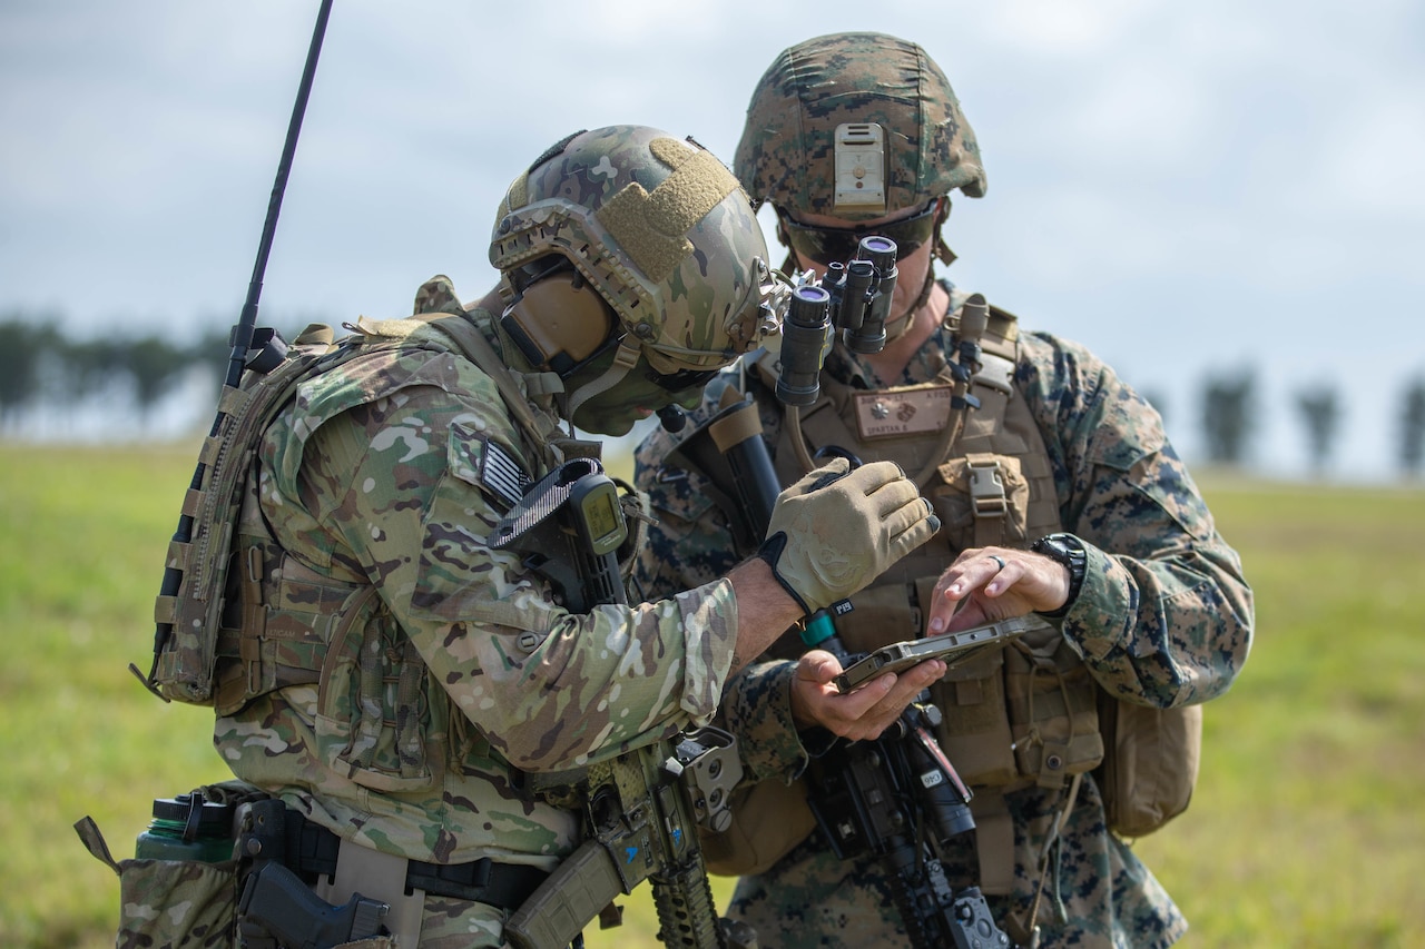
[[[504,292],[557,258],[613,308],[618,356],[581,402],[641,355],[700,380],[772,328],[767,244],[737,178],[711,152],[657,128],[581,131],[540,155],[496,215],[490,264]],[[566,266],[567,269],[567,266]]]

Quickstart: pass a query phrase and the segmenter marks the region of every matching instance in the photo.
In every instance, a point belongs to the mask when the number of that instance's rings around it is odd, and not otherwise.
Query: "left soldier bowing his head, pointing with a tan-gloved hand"
[[[499,209],[497,291],[466,308],[435,278],[418,318],[363,318],[261,440],[244,533],[276,566],[264,628],[219,650],[214,741],[238,778],[343,845],[489,893],[428,888],[420,946],[500,945],[510,911],[579,842],[577,812],[527,791],[523,772],[708,721],[728,674],[778,630],[936,529],[888,466],[855,493],[846,476],[798,497],[781,560],[587,613],[486,544],[520,479],[597,445],[563,420],[623,433],[691,406],[775,323],[764,256],[747,195],[691,140],[571,135]],[[818,530],[828,519],[864,530]],[[818,587],[789,559],[822,546],[871,551]]]

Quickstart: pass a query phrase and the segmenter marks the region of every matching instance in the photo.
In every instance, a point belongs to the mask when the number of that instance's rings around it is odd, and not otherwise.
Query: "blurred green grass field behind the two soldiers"
[[[0,446],[0,946],[111,946],[151,799],[227,777],[211,712],[164,705],[152,598],[194,449]],[[1184,946],[1425,945],[1425,492],[1204,479],[1257,591],[1257,641],[1207,710],[1191,809],[1137,844]],[[718,893],[727,882],[718,881]],[[651,903],[590,946],[656,946]],[[771,949],[771,948],[768,948]]]

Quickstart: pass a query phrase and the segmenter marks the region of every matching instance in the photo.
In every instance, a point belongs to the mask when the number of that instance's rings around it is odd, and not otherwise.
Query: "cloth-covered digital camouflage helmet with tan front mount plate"
[[[787,48],[747,107],[734,161],[758,205],[865,221],[959,188],[985,194],[979,144],[915,43],[838,33]]]

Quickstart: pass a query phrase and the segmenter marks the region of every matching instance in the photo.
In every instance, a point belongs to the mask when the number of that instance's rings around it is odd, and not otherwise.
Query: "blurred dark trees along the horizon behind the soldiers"
[[[53,316],[0,316],[0,436],[14,435],[26,412],[78,409],[115,392],[133,400],[141,430],[154,408],[191,373],[208,373],[214,386],[227,373],[227,331],[211,329],[184,345],[155,332],[73,339],[57,325]],[[1144,396],[1164,409],[1151,392]],[[1340,392],[1330,386],[1301,390],[1294,409],[1310,473],[1324,474],[1341,432]],[[1260,410],[1251,370],[1208,378],[1198,415],[1206,460],[1245,466]],[[1395,416],[1395,467],[1404,477],[1418,479],[1425,472],[1425,375],[1401,386]]]

